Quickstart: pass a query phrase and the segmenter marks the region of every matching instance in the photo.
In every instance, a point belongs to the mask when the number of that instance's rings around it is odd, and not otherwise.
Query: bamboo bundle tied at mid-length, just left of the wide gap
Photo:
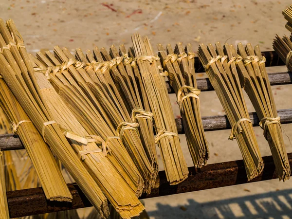
[[[195,167],[207,163],[209,148],[201,121],[200,90],[197,89],[196,74],[194,69],[194,53],[190,44],[187,53],[181,42],[176,46],[176,54],[170,44],[166,46],[167,53],[158,44],[157,48],[164,60],[164,68],[168,72],[171,87],[177,95],[177,102],[181,110],[187,145]]]

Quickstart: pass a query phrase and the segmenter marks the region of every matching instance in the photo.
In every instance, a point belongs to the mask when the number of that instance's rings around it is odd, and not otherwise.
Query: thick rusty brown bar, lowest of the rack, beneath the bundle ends
[[[288,154],[288,158],[292,165],[292,153]],[[272,156],[263,157],[263,161],[265,164],[263,173],[252,181],[247,180],[242,160],[209,164],[201,169],[189,167],[189,177],[178,185],[169,185],[165,172],[160,171],[151,194],[144,194],[141,199],[276,179]],[[73,195],[72,203],[47,201],[41,187],[7,192],[10,217],[17,218],[91,206],[76,184],[70,183],[68,187]]]

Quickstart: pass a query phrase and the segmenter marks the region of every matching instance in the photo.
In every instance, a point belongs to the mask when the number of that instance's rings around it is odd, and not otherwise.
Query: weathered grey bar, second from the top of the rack
[[[292,73],[281,72],[281,73],[269,73],[269,80],[271,85],[282,85],[292,84]],[[209,78],[198,78],[197,79],[198,89],[201,91],[214,91]],[[168,93],[174,93],[174,90],[169,85],[169,81],[166,81]]]

